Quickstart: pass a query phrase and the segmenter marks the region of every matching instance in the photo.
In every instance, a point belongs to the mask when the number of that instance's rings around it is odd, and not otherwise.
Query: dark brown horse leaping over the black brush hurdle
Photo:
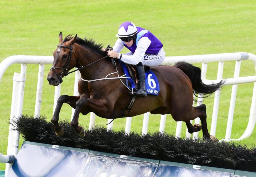
[[[53,52],[53,65],[48,73],[50,85],[57,86],[62,78],[70,74],[69,70],[77,68],[81,73],[78,81],[78,96],[61,95],[52,116],[51,122],[57,136],[63,136],[64,129],[58,124],[60,109],[67,103],[75,109],[70,124],[76,133],[84,136],[84,129],[78,125],[79,113],[86,115],[90,112],[99,117],[116,119],[123,117],[132,95],[125,85],[122,67],[113,67],[107,51],[102,44],[93,39],[81,39],[77,34],[65,37],[59,34],[60,44]],[[117,68],[117,69],[116,69]],[[130,111],[125,117],[136,116],[150,112],[151,114],[171,114],[175,121],[186,122],[189,133],[203,131],[203,139],[218,141],[210,135],[206,122],[206,106],[204,104],[193,107],[193,94],[200,93],[202,97],[220,89],[225,81],[217,84],[205,85],[201,80],[201,69],[186,62],[178,62],[174,66],[159,65],[152,67],[159,81],[158,96],[150,95],[146,98],[137,97]],[[111,74],[110,74],[111,73]],[[110,75],[109,75],[110,74]],[[100,79],[107,75],[119,79]],[[190,123],[199,117],[202,125]]]

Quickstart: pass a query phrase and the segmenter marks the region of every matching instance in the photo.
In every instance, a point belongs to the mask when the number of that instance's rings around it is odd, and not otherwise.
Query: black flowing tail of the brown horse
[[[194,94],[196,95],[200,93],[203,98],[208,97],[211,93],[220,89],[225,82],[225,80],[221,80],[217,84],[206,85],[201,79],[201,69],[199,67],[186,62],[178,62],[174,66],[182,70],[188,76],[192,83]]]

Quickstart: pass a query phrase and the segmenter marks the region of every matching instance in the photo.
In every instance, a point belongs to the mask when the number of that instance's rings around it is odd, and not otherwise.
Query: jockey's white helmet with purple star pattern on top
[[[133,34],[136,34],[137,32],[138,30],[134,25],[134,23],[130,21],[126,21],[119,26],[118,34],[116,34],[116,37],[119,37],[119,38],[129,37],[129,36],[132,36]]]

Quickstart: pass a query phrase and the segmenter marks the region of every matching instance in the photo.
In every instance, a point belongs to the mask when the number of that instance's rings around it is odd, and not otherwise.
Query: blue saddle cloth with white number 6
[[[124,69],[124,74],[126,74],[126,77],[130,77],[131,75],[126,65],[123,62],[121,62],[121,65]],[[151,70],[148,70],[145,72],[145,84],[146,84],[147,94],[152,94],[152,95],[159,94],[159,91],[160,91],[159,83],[156,75]],[[132,78],[126,78],[126,86],[131,90],[132,89],[135,90],[135,83],[133,82]]]

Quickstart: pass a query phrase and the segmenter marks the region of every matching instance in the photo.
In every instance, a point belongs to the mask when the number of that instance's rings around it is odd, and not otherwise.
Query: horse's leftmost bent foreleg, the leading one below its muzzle
[[[68,95],[61,95],[57,101],[56,108],[54,110],[53,116],[52,116],[52,123],[54,130],[56,132],[57,136],[63,136],[64,134],[64,129],[61,125],[59,125],[59,115],[60,115],[60,109],[63,105],[63,103],[68,103],[71,107],[75,108],[76,107],[76,101],[79,99],[78,97],[75,96],[68,96]]]

